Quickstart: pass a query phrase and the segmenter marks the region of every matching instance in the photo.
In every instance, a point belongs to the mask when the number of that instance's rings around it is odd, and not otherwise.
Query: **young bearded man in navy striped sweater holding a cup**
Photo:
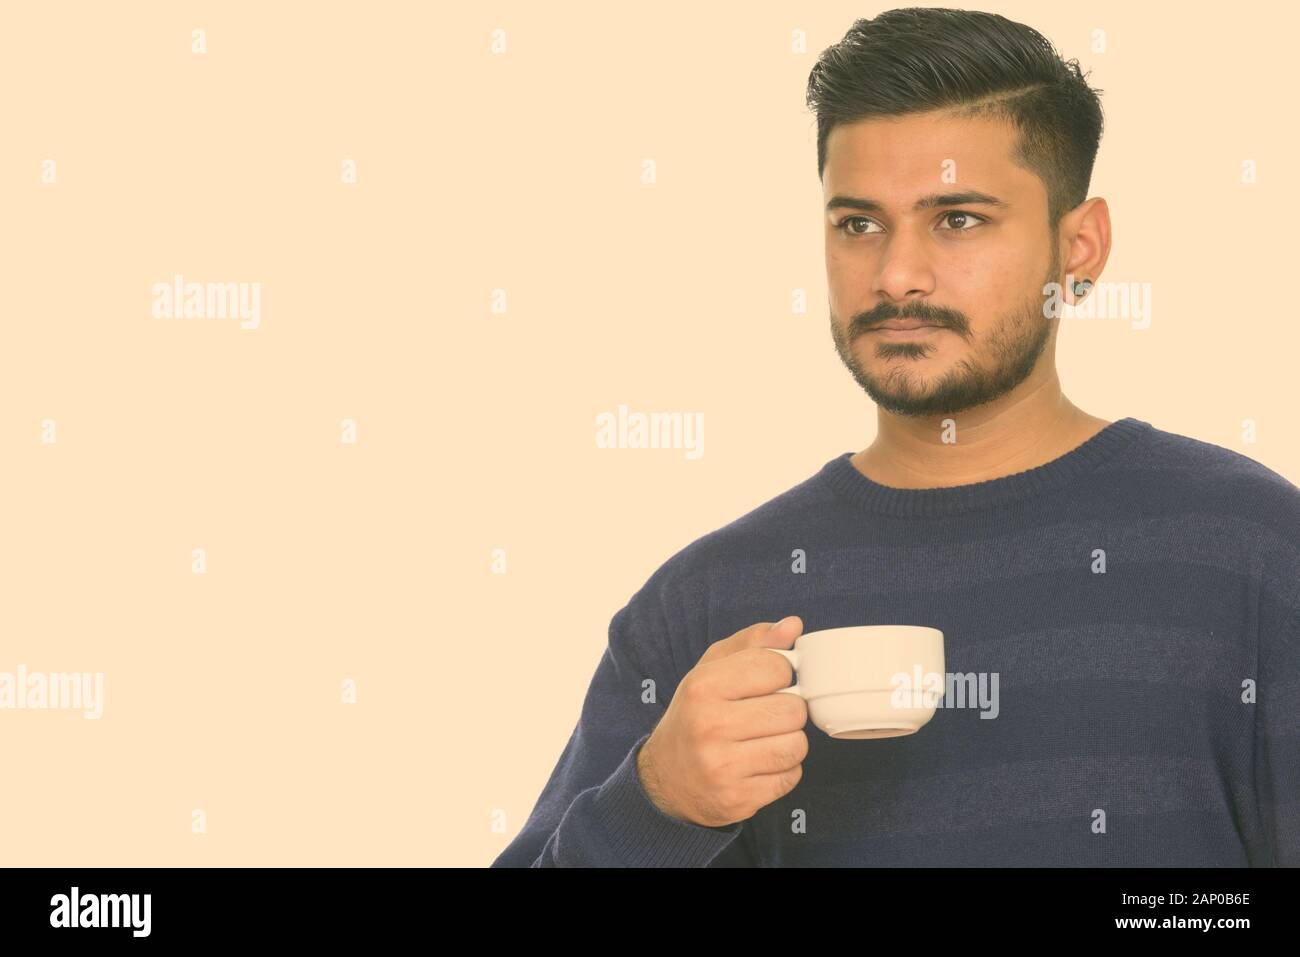
[[[1048,299],[1110,248],[1078,64],[1002,17],[892,10],[809,101],[831,334],[876,438],[614,616],[495,866],[1300,865],[1300,489],[1057,378]],[[939,628],[974,700],[863,741],[777,693],[767,648],[875,623]]]

